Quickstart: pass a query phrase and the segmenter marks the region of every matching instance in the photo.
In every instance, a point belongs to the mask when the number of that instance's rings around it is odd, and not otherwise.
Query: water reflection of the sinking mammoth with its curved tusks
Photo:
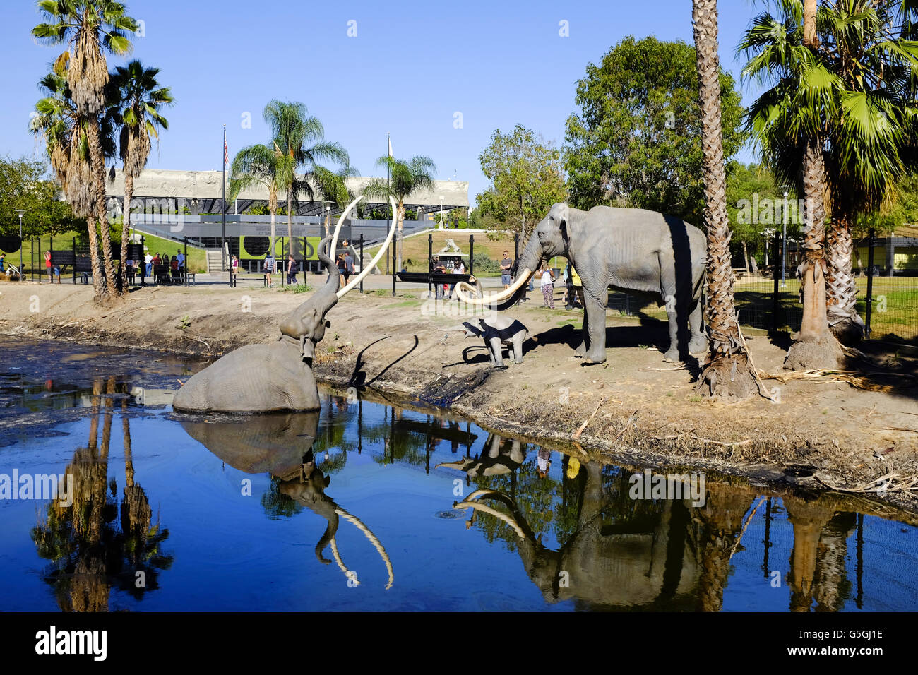
[[[383,558],[388,573],[386,590],[392,587],[394,572],[386,548],[359,518],[325,494],[331,478],[317,465],[312,448],[319,430],[319,411],[254,415],[244,419],[209,416],[207,421],[197,416],[176,417],[188,435],[230,467],[249,474],[271,474],[272,490],[276,493],[267,495],[267,501],[276,501],[278,495],[283,495],[328,521],[316,545],[316,557],[322,564],[329,564],[331,561],[323,556],[323,551],[330,546],[341,572],[356,585],[359,581],[344,565],[335,541],[340,519],[353,523]],[[283,511],[276,504],[274,509]]]

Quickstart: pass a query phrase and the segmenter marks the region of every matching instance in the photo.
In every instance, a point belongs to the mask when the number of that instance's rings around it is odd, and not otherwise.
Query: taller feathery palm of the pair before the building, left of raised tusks
[[[319,177],[333,174],[325,170],[323,163],[348,166],[350,160],[339,143],[325,141],[322,123],[309,115],[304,104],[274,99],[264,107],[263,115],[271,129],[274,152],[279,156],[281,185],[286,192],[287,238],[293,241],[294,199],[299,195],[310,201],[315,198]]]

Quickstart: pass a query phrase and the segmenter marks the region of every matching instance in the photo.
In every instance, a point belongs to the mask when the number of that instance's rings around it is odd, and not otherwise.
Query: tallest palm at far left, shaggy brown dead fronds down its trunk
[[[108,234],[106,164],[99,119],[106,108],[105,52],[128,53],[131,43],[127,35],[136,31],[138,24],[125,13],[124,5],[110,0],[40,0],[38,6],[46,21],[32,28],[32,35],[52,45],[67,45],[54,62],[54,70],[66,73],[74,110],[86,136],[89,171],[68,177],[66,196],[74,210],[87,217],[87,228],[93,230],[97,225],[101,231],[108,286],[102,294],[96,287],[95,298],[103,300],[118,294]],[[85,208],[88,205],[92,208]],[[90,234],[91,244],[94,239]]]

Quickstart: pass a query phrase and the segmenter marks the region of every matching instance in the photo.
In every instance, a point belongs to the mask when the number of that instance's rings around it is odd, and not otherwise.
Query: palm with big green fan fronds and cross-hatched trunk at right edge
[[[890,198],[906,168],[903,157],[914,145],[916,51],[908,37],[915,9],[894,0],[837,0],[823,6],[816,20],[818,39],[810,45],[812,63],[804,51],[799,10],[799,3],[778,3],[778,16],[756,17],[740,45],[756,54],[744,73],[780,78],[750,108],[748,121],[765,136],[769,162],[786,181],[802,174],[805,149],[805,126],[788,120],[809,119],[823,139],[823,189],[832,212],[824,242],[827,322],[836,335],[857,339],[864,323],[855,309],[851,225]],[[812,109],[801,108],[807,105]],[[818,237],[822,230],[808,232]],[[818,243],[808,245],[812,250]]]

